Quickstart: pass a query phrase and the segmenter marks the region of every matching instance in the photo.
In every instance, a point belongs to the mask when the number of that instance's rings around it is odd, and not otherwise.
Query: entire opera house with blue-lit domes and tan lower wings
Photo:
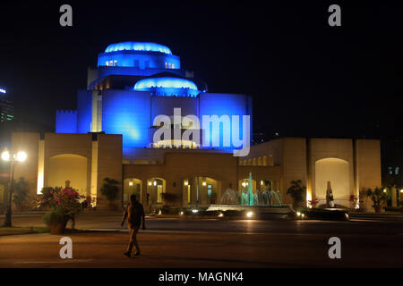
[[[214,115],[221,119],[216,128],[201,125]],[[236,115],[239,126],[223,120]],[[107,206],[99,191],[105,178],[122,189],[116,206],[136,194],[150,208],[218,203],[226,189],[242,191],[250,172],[253,191],[279,190],[284,203],[291,202],[286,193],[292,180],[307,187],[306,200],[318,198],[320,204],[331,181],[339,206],[348,206],[359,189],[381,185],[378,140],[284,138],[234,156],[242,147],[225,138],[237,133],[249,145],[252,115],[252,97],[210,92],[167,46],[112,44],[89,69],[76,110],[56,112],[56,132],[13,133],[13,148],[29,155],[15,176],[29,181],[33,194],[71,181],[99,208]],[[156,140],[161,126],[172,136]],[[201,144],[204,139],[214,144]]]

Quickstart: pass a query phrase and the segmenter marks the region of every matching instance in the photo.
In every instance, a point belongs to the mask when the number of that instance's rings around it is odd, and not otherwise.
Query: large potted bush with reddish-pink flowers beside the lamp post
[[[42,194],[37,201],[37,207],[47,208],[43,221],[52,234],[64,233],[69,220],[81,212],[80,196],[75,189],[43,188]]]

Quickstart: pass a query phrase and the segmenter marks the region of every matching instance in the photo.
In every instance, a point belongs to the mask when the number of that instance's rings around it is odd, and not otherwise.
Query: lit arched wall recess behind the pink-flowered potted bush
[[[77,189],[81,195],[87,195],[88,169],[87,158],[75,154],[51,156],[47,166],[47,186],[64,187],[65,181]]]

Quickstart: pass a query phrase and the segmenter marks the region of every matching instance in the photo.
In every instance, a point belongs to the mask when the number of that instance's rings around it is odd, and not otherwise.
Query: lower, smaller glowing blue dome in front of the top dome
[[[197,90],[197,86],[191,80],[163,77],[139,80],[134,90],[150,90],[150,88],[189,88]]]

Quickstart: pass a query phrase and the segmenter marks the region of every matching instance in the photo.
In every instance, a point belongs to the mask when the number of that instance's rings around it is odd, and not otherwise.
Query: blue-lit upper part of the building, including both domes
[[[160,147],[152,140],[158,130],[154,119],[160,114],[172,118],[174,108],[181,108],[182,116],[194,115],[200,122],[203,115],[239,115],[242,136],[242,115],[252,120],[251,97],[206,89],[201,80],[186,78],[180,58],[167,46],[112,44],[99,54],[98,67],[88,71],[87,88],[78,91],[77,110],[56,113],[56,132],[122,134],[124,157],[130,157],[137,154],[136,148]],[[211,130],[210,141],[219,142],[214,148],[231,152],[234,146],[223,145],[223,134],[232,135],[233,128],[220,127]],[[183,132],[189,127],[172,128]]]

